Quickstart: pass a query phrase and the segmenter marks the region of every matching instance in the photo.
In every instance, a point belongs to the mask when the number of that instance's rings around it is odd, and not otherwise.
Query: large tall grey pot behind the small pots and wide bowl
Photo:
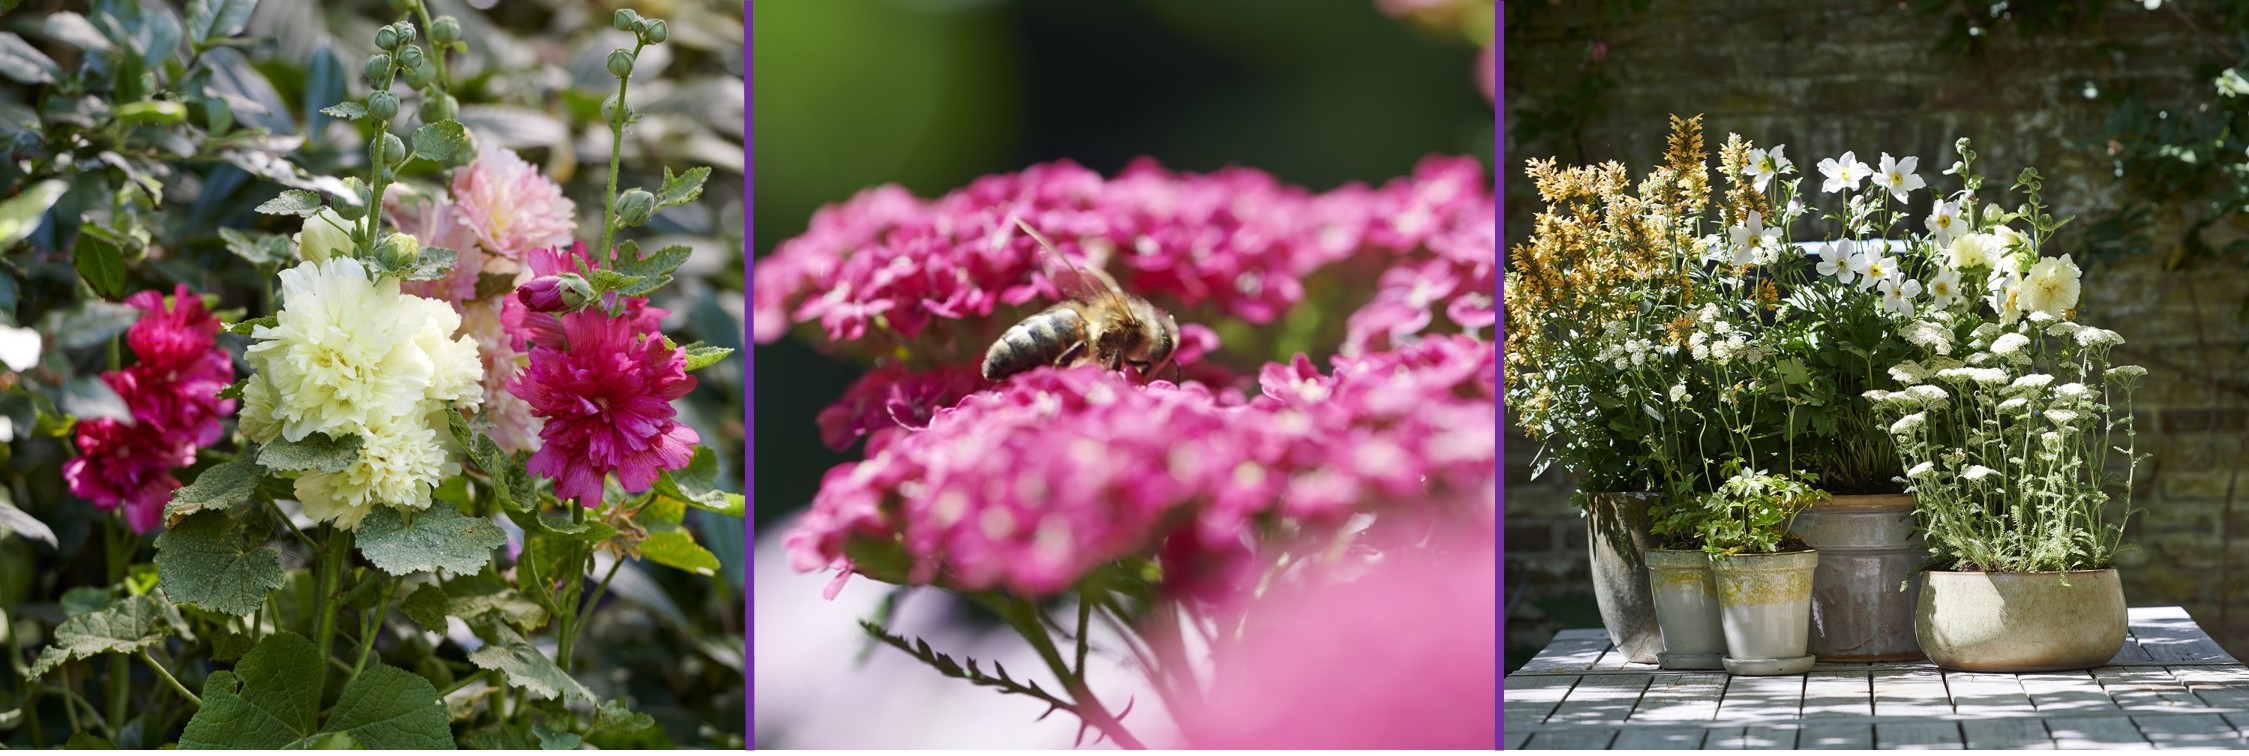
[[[1840,495],[1797,513],[1792,533],[1819,551],[1810,655],[1822,662],[1912,662],[1914,605],[1927,542],[1912,495]],[[1898,590],[1898,587],[1905,590]]]

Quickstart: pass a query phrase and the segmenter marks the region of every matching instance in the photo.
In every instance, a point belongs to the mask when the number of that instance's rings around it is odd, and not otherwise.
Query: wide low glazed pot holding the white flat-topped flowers
[[[2107,664],[2123,648],[2116,569],[1925,572],[1914,634],[1936,666],[1968,673],[2058,673]]]

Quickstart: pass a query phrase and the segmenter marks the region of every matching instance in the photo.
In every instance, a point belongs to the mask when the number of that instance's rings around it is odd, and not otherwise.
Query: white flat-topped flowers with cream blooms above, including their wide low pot
[[[1921,358],[1889,369],[1905,387],[1869,400],[1889,418],[1941,567],[1921,585],[1921,648],[1959,670],[2074,670],[2105,664],[2125,639],[2114,558],[2143,459],[2132,389],[2146,369],[2112,367],[2123,338],[2074,322],[2080,272],[2040,254],[2060,223],[2035,171],[2015,189],[2022,209],[1993,207],[1977,223],[1995,254],[1945,261],[1986,279],[1990,299],[1916,322]],[[2029,232],[2008,230],[2015,220]],[[2110,450],[2123,452],[2121,475]],[[2125,495],[2121,518],[2110,518],[2112,486]]]

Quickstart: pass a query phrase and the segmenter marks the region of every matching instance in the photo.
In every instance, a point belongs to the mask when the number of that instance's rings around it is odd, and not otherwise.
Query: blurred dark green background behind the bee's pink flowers
[[[767,0],[753,22],[758,256],[866,187],[931,198],[1064,158],[1241,164],[1313,191],[1493,158],[1478,50],[1372,0]],[[830,452],[814,416],[864,367],[794,338],[756,349],[767,529],[859,454]]]

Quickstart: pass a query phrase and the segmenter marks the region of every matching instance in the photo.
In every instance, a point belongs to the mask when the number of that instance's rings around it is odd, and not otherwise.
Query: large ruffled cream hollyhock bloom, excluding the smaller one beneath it
[[[425,400],[481,396],[484,367],[475,342],[452,335],[461,326],[452,306],[405,295],[355,259],[283,270],[281,295],[277,324],[256,326],[243,358],[268,382],[250,405],[270,414],[283,439],[360,434],[421,416]]]

